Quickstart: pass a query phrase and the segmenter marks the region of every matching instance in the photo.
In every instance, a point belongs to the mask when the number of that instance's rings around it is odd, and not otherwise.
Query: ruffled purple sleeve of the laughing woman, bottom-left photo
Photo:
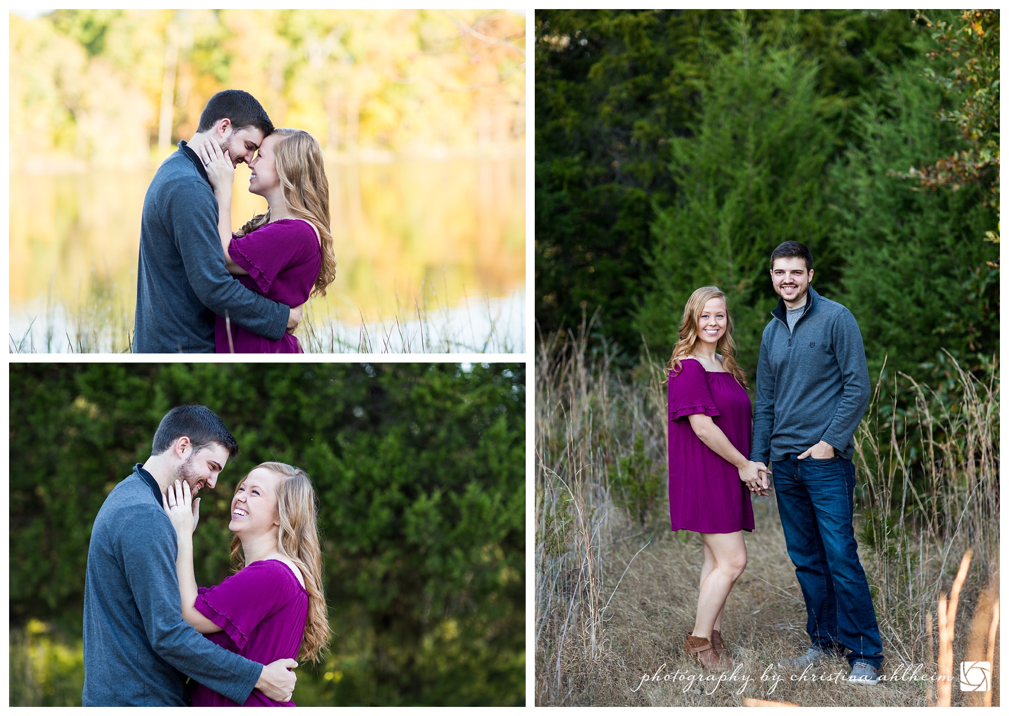
[[[291,568],[276,560],[253,562],[216,587],[198,589],[196,609],[244,648],[259,622],[291,600],[291,579],[284,570]]]

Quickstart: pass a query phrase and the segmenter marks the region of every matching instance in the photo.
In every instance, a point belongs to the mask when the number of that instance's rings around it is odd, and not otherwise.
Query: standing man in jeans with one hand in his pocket
[[[871,686],[883,652],[852,528],[853,436],[869,404],[869,368],[855,317],[813,290],[812,277],[812,254],[799,242],[771,254],[780,299],[761,340],[750,459],[772,466],[808,614],[810,647],[780,666],[848,652],[849,683]]]

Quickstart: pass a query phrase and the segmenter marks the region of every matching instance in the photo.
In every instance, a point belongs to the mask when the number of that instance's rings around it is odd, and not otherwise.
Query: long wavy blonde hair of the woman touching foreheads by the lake
[[[333,234],[329,230],[329,181],[322,160],[322,147],[304,129],[277,127],[273,134],[284,137],[276,143],[273,153],[288,208],[296,217],[319,230],[322,265],[312,295],[326,295],[326,288],[336,278],[336,255],[333,253]],[[245,222],[235,236],[245,236],[268,223],[269,209]]]

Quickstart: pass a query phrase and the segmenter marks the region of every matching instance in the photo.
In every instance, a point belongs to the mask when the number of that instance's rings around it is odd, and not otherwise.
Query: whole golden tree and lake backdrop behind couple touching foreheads
[[[522,351],[521,11],[9,20],[11,350],[129,349],[147,185],[207,100],[240,88],[323,147],[337,277],[306,312],[307,350]],[[247,182],[239,165],[236,229],[265,210]]]

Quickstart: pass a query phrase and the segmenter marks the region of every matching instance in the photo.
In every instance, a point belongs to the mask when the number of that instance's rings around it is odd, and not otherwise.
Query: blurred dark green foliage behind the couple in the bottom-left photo
[[[11,704],[80,705],[91,525],[187,402],[242,451],[202,502],[200,584],[230,573],[252,467],[315,482],[332,640],[299,705],[524,702],[523,365],[34,363],[10,382]]]

